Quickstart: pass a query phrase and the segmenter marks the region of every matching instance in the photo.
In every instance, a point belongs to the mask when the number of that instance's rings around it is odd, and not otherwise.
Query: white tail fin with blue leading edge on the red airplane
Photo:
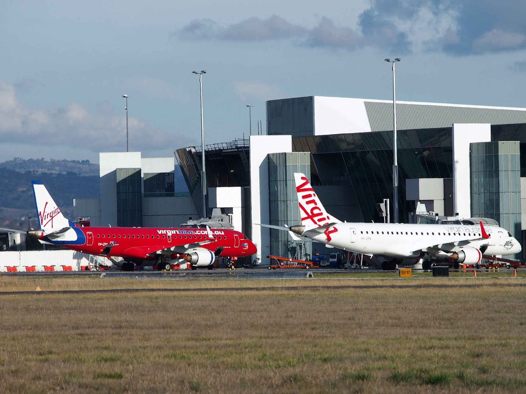
[[[39,180],[33,180],[33,193],[35,195],[36,210],[38,211],[38,223],[45,234],[53,233],[65,227],[74,227],[68,219],[62,215],[57,204],[49,195],[46,187]]]

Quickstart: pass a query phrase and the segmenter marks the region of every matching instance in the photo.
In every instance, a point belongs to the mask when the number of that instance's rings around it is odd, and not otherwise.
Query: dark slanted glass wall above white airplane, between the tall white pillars
[[[400,221],[413,210],[406,201],[406,179],[451,178],[450,127],[398,131]],[[312,185],[352,185],[364,221],[380,221],[376,204],[393,199],[392,132],[292,137],[294,151],[312,154]]]

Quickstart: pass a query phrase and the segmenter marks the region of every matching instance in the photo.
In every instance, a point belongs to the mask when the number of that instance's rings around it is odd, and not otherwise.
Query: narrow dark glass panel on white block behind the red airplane
[[[117,168],[117,226],[143,226],[140,168]]]

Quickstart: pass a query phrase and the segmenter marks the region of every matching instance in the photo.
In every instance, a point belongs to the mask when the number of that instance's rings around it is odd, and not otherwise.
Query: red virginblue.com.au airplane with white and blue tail
[[[243,257],[256,246],[236,230],[221,228],[79,227],[66,219],[41,181],[33,180],[40,230],[27,235],[90,255],[122,257],[124,271],[136,266],[190,263],[211,269],[216,257]]]

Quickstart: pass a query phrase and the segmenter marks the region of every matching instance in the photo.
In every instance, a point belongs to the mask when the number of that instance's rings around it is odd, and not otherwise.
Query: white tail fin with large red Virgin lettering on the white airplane
[[[304,174],[294,173],[294,179],[296,180],[296,193],[298,193],[301,225],[305,226],[305,231],[329,223],[341,223],[323,208],[320,199],[314,193],[314,189]]]

